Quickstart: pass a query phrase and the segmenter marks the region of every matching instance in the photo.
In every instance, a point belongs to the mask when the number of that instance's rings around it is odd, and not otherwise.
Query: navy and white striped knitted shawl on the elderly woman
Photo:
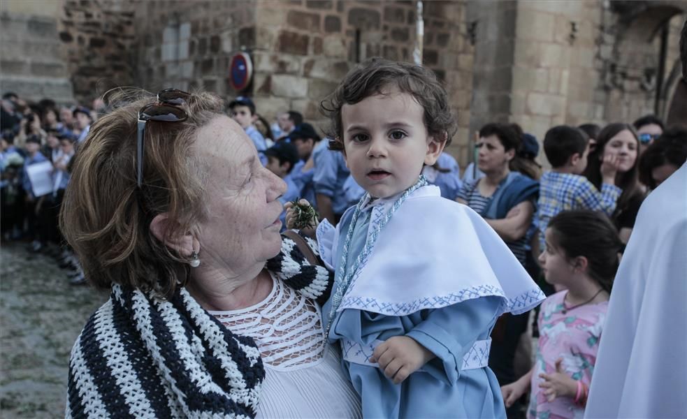
[[[314,300],[331,292],[330,272],[287,238],[267,267]],[[66,417],[253,418],[264,377],[253,339],[224,328],[184,288],[161,300],[114,284],[71,351]]]

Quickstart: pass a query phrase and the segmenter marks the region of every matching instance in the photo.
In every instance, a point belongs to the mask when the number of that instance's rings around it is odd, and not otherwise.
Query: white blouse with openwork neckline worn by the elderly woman
[[[282,281],[240,310],[210,311],[238,335],[250,336],[265,365],[258,418],[360,418],[360,397],[344,375],[338,348],[326,343],[320,311]]]

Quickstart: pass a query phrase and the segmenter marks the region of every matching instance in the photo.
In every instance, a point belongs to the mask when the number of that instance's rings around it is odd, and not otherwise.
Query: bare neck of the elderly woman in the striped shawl
[[[272,277],[263,269],[256,275],[249,275],[248,279],[205,272],[191,276],[186,288],[204,309],[229,311],[245,309],[265,300],[272,286]]]

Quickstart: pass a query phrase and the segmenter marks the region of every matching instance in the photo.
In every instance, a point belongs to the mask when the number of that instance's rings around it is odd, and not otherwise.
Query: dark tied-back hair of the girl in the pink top
[[[610,293],[623,242],[608,217],[590,210],[564,211],[554,216],[548,227],[568,258],[587,258],[587,273]]]

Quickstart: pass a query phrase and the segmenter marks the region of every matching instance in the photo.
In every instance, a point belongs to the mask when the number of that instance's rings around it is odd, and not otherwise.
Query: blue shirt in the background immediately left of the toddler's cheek
[[[340,215],[349,207],[343,184],[351,172],[346,167],[343,154],[330,150],[327,145],[328,140],[323,138],[312,150],[312,159],[314,159],[312,181],[315,193],[330,197],[334,214]]]

